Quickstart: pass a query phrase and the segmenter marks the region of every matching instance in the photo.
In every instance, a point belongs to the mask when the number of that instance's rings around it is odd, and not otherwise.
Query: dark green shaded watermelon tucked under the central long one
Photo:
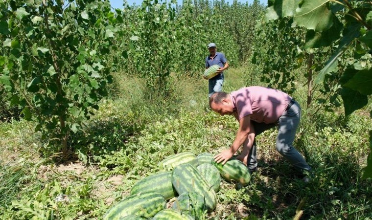
[[[195,192],[183,193],[173,202],[172,209],[187,213],[195,219],[204,219],[204,196]]]

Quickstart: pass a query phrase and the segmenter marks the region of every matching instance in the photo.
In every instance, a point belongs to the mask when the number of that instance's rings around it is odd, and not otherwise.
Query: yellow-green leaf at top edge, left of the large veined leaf
[[[300,0],[275,0],[266,10],[266,21],[279,18],[293,17]]]

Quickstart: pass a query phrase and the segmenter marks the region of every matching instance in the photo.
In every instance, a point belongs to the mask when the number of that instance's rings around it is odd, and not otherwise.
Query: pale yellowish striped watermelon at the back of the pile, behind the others
[[[189,163],[193,166],[198,166],[198,160],[196,155],[190,152],[184,152],[180,154],[175,154],[168,156],[160,162],[159,166],[165,170],[173,170],[180,164]]]

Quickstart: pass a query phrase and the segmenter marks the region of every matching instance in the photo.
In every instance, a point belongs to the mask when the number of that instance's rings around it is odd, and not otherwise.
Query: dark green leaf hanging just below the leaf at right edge
[[[350,88],[341,89],[341,97],[344,101],[345,116],[349,116],[355,110],[361,109],[368,104],[368,96]]]

